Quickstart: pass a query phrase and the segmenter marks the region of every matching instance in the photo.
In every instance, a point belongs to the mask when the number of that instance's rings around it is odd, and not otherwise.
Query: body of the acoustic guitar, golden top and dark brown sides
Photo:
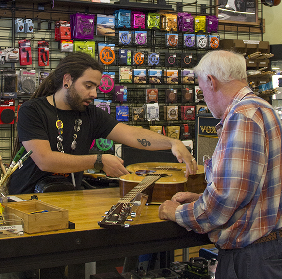
[[[163,168],[168,170],[164,171]],[[177,192],[187,191],[187,178],[184,171],[186,165],[180,163],[140,163],[132,164],[126,167],[131,174],[121,176],[119,179],[120,197],[125,196],[147,175],[162,174],[158,181],[155,182],[154,188],[150,187],[146,194],[149,195],[148,202],[162,203],[170,200]],[[139,171],[147,171],[146,174],[139,174]],[[141,172],[142,173],[142,172]],[[150,190],[152,190],[152,194]],[[150,199],[151,197],[151,199]]]

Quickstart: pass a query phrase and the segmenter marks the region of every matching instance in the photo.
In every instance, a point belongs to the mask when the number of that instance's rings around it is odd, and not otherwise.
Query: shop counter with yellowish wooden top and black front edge
[[[30,199],[31,194],[17,195]],[[62,266],[211,244],[207,235],[187,232],[158,218],[158,206],[145,206],[129,228],[100,228],[105,211],[117,203],[119,188],[37,194],[39,200],[68,209],[75,229],[0,238],[0,272]]]

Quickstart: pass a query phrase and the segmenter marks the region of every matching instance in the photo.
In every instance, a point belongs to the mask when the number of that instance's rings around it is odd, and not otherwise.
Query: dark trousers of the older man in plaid
[[[282,238],[218,252],[215,279],[282,279]]]

